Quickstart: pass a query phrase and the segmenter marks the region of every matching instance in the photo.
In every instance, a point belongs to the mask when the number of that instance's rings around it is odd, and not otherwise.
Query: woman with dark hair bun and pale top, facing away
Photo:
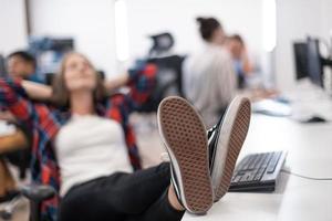
[[[205,48],[184,63],[184,94],[199,110],[206,126],[211,127],[235,96],[237,80],[219,21],[197,18],[197,22]]]

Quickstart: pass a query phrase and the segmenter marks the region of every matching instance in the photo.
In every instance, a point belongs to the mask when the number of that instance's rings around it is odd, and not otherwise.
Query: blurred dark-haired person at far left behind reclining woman
[[[37,61],[34,56],[25,51],[15,51],[8,55],[7,71],[11,77],[43,83],[42,77],[37,74]]]

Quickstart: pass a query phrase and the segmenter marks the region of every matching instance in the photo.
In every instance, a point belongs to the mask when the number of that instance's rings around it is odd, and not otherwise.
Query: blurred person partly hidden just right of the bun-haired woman
[[[239,34],[234,34],[227,38],[226,45],[234,60],[238,87],[245,88],[246,77],[250,76],[255,71],[249,60],[245,41]]]

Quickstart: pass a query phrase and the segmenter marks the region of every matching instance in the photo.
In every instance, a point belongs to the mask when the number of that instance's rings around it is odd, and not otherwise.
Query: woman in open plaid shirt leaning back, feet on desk
[[[185,210],[207,212],[212,201],[226,193],[248,129],[248,99],[238,97],[230,105],[226,117],[231,125],[222,135],[229,141],[216,146],[215,152],[220,148],[228,151],[211,159],[212,165],[219,165],[211,168],[212,177],[205,126],[193,106],[179,97],[164,99],[158,109],[159,131],[170,162],[137,170],[141,165],[128,114],[147,98],[154,74],[154,66],[142,64],[116,83],[103,84],[85,56],[70,53],[52,91],[52,102],[62,110],[31,102],[29,96],[37,95],[38,86],[0,78],[0,107],[33,129],[33,181],[60,192],[43,204],[43,220],[59,215],[63,221],[176,221]],[[128,94],[105,96],[106,88],[124,84],[131,86]],[[248,120],[243,123],[238,113]],[[245,130],[238,130],[240,136],[235,140],[231,128],[240,118]],[[214,164],[215,159],[225,164]]]

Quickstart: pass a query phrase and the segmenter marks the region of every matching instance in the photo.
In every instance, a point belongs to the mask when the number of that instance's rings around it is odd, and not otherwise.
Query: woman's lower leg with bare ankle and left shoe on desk
[[[212,204],[207,136],[196,110],[183,98],[165,98],[158,126],[170,159],[172,186],[146,211],[126,221],[179,221],[184,208],[201,214]]]

